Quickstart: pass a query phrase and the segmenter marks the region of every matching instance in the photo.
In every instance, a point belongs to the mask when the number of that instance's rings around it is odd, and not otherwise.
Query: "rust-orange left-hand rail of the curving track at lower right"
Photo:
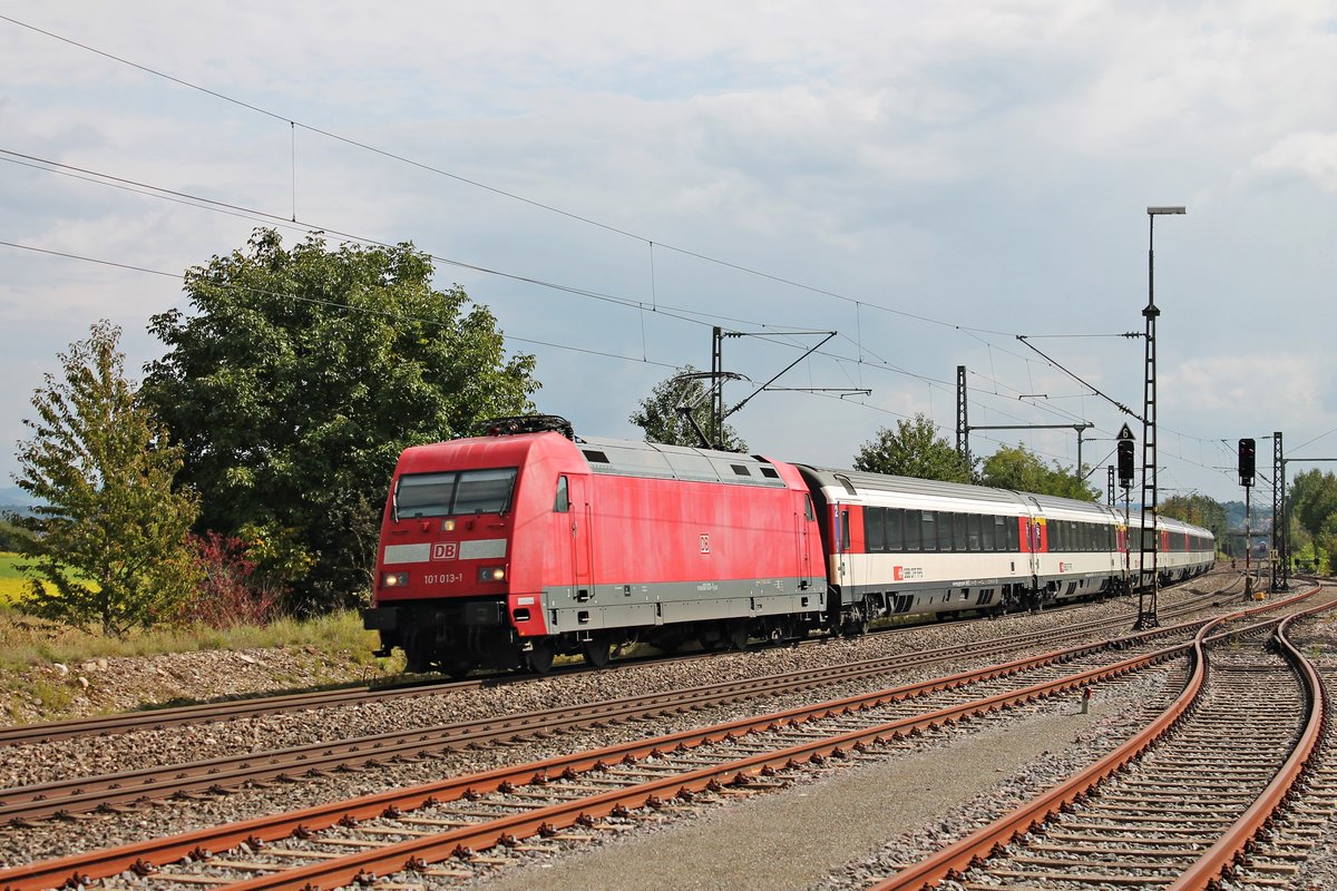
[[[1318,590],[1320,586],[1316,586],[1312,590],[1278,601],[1271,606],[1298,602],[1313,596]],[[1324,604],[1314,608],[1314,612],[1328,609],[1330,606],[1332,604]],[[1063,783],[1048,789],[1043,795],[1032,799],[1012,812],[1005,814],[993,823],[989,823],[967,838],[945,847],[936,855],[910,864],[896,875],[869,886],[865,891],[917,891],[920,888],[932,888],[947,879],[957,878],[969,867],[977,866],[993,851],[1001,850],[1003,846],[1012,839],[1038,828],[1046,820],[1054,818],[1064,807],[1083,799],[1088,792],[1091,792],[1091,789],[1107,777],[1126,769],[1131,761],[1140,757],[1165,733],[1178,725],[1189,715],[1193,703],[1202,692],[1206,681],[1205,648],[1209,640],[1221,640],[1234,633],[1258,631],[1261,627],[1267,624],[1280,622],[1281,617],[1266,620],[1237,632],[1221,632],[1217,635],[1209,635],[1209,632],[1227,621],[1231,621],[1233,618],[1251,616],[1263,612],[1263,606],[1245,609],[1235,616],[1222,616],[1203,625],[1194,637],[1194,641],[1186,645],[1191,648],[1191,672],[1185,683],[1183,691],[1181,691],[1174,703],[1171,703],[1170,707],[1151,724],[1124,741],[1116,749],[1090,767],[1072,775]]]

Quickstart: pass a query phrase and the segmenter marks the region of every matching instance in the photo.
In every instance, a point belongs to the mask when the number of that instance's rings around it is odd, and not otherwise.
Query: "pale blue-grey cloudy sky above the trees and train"
[[[106,318],[140,378],[274,226],[431,252],[578,434],[639,437],[721,326],[755,453],[955,443],[964,366],[972,454],[1091,423],[1102,492],[1154,283],[1161,498],[1241,500],[1254,437],[1270,505],[1263,437],[1337,457],[1333,59],[1305,0],[0,0],[0,489],[57,353]]]

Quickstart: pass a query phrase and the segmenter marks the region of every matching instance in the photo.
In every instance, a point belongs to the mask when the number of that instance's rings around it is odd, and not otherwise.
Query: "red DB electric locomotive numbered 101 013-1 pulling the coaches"
[[[381,528],[381,655],[452,676],[594,664],[644,640],[797,637],[825,622],[813,500],[796,468],[647,442],[582,439],[554,415],[406,449]]]

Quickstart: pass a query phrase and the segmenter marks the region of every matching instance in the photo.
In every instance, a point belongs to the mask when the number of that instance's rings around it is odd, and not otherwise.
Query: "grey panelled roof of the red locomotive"
[[[635,439],[582,438],[576,448],[594,473],[785,488],[775,465],[761,456]]]

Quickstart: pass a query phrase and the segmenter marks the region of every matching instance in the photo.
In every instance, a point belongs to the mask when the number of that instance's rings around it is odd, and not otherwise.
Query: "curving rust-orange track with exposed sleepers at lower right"
[[[1280,622],[1274,645],[1259,633],[1271,622],[1233,636],[1210,635],[1215,622],[1205,627],[1183,693],[1142,733],[872,891],[947,879],[965,891],[1187,891],[1218,888],[1227,875],[1239,886],[1284,884],[1306,847],[1296,838],[1306,824],[1312,830],[1306,811],[1337,807],[1334,769],[1318,764],[1329,707],[1317,671],[1286,637],[1293,618]],[[1306,792],[1301,780],[1314,775],[1317,788]],[[1306,795],[1312,806],[1288,815]],[[1277,826],[1293,827],[1296,844],[1274,843],[1270,856],[1255,856],[1259,839],[1280,842]]]

